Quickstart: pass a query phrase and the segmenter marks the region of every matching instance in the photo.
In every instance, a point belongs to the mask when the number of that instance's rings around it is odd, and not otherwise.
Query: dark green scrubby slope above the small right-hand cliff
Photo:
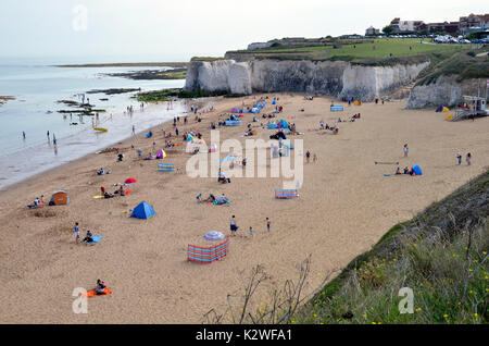
[[[455,54],[432,53],[431,64],[419,75],[417,85],[435,83],[440,76],[456,75],[456,81],[469,78],[489,78],[489,57],[477,57],[479,51],[466,51]]]

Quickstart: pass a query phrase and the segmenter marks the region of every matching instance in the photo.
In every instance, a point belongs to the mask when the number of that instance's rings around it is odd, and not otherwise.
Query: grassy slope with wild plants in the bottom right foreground
[[[489,171],[351,261],[294,323],[488,323]],[[402,287],[414,294],[401,314]]]

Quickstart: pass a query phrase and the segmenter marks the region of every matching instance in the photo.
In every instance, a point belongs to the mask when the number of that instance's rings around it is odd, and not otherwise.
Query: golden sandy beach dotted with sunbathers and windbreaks
[[[209,144],[210,122],[220,114],[251,106],[261,95],[249,98],[220,98],[214,110],[196,123],[178,124],[181,134],[196,129]],[[233,178],[218,184],[215,178],[190,178],[185,165],[191,157],[183,147],[167,150],[164,162],[176,173],[158,172],[159,161],[137,160],[136,148],[146,156],[155,140],[164,145],[162,128],[153,138],[143,134],[117,145],[125,153],[92,153],[63,166],[8,187],[0,194],[0,280],[7,295],[0,298],[0,323],[200,323],[215,308],[224,311],[226,296],[242,289],[251,269],[262,264],[273,285],[297,279],[297,264],[312,256],[308,293],[317,288],[331,271],[338,271],[369,249],[391,226],[411,219],[429,203],[440,200],[489,166],[489,118],[448,122],[435,110],[405,110],[405,101],[386,104],[343,104],[343,112],[330,112],[329,97],[305,100],[303,95],[268,94],[262,113],[275,109],[271,99],[280,98],[281,116],[296,123],[303,135],[304,151],[318,161],[304,163],[300,197],[277,200],[274,189],[280,178]],[[165,104],[154,107],[166,107]],[[303,112],[300,109],[304,109]],[[319,121],[329,125],[355,113],[355,122],[339,123],[339,135],[319,131]],[[259,114],[260,122],[266,122]],[[221,139],[243,141],[246,125],[253,114],[244,114],[243,125],[221,127]],[[253,123],[255,125],[256,123]],[[260,124],[260,123],[258,123]],[[259,138],[275,131],[256,128]],[[409,144],[409,157],[403,145]],[[130,146],[134,145],[135,149]],[[473,156],[472,165],[456,164],[456,153]],[[226,153],[221,153],[224,158]],[[422,176],[384,176],[389,168],[375,161],[400,162],[401,169],[418,164]],[[103,166],[110,175],[97,176]],[[393,173],[393,169],[389,173]],[[93,199],[100,186],[127,177],[138,178],[125,197]],[[28,210],[35,197],[50,198],[65,189],[67,206]],[[227,206],[198,205],[196,195],[225,193]],[[149,220],[128,218],[140,201],[154,207]],[[228,256],[212,264],[187,261],[187,245],[199,242],[208,231],[229,235],[235,214],[240,226],[231,237]],[[265,218],[272,222],[266,231]],[[75,244],[73,226],[79,222],[82,235],[91,230],[104,238],[95,246]],[[253,227],[253,236],[248,235]],[[76,314],[72,304],[75,287],[90,289],[104,280],[113,295],[89,299],[88,313]],[[266,298],[266,289],[259,293]]]

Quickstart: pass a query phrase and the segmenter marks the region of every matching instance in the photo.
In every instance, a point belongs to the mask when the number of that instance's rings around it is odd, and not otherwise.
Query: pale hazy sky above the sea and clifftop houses
[[[283,37],[457,21],[487,0],[1,0],[0,58],[188,61]]]

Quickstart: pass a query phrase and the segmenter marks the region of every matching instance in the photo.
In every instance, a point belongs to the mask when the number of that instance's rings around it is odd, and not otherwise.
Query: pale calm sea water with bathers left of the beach
[[[179,102],[174,102],[171,108],[141,109],[140,103],[130,98],[135,92],[86,94],[93,89],[141,88],[147,91],[183,87],[183,79],[135,81],[106,76],[110,73],[165,67],[53,66],[63,62],[0,60],[0,96],[15,98],[0,106],[0,189],[121,141],[131,135],[133,125],[139,133],[186,111],[185,104]],[[106,111],[99,113],[98,126],[109,132],[92,129],[95,116],[58,112],[73,109],[59,103],[59,100],[79,102],[80,94],[85,94],[85,100],[89,98],[95,109]],[[100,100],[104,98],[109,100]],[[133,113],[126,112],[129,106],[133,106]],[[53,136],[57,146],[52,143]]]

